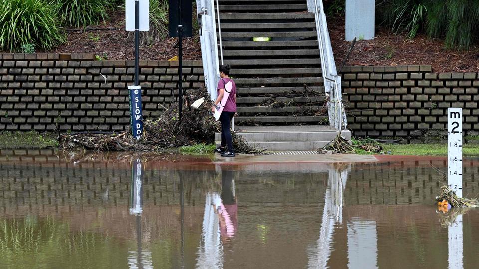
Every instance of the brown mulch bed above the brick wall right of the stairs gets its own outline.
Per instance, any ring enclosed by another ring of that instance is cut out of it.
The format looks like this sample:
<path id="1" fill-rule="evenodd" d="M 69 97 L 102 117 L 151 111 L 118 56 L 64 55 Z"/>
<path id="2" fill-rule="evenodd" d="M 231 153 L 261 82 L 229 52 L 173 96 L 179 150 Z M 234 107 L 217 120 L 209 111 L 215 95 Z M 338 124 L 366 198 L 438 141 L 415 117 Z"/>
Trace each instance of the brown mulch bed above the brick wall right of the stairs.
<path id="1" fill-rule="evenodd" d="M 351 47 L 345 40 L 344 17 L 328 19 L 329 34 L 338 66 Z M 479 46 L 469 51 L 445 50 L 438 39 L 418 35 L 408 40 L 405 34 L 394 35 L 376 26 L 374 40 L 356 42 L 346 65 L 431 65 L 435 72 L 479 72 Z"/>

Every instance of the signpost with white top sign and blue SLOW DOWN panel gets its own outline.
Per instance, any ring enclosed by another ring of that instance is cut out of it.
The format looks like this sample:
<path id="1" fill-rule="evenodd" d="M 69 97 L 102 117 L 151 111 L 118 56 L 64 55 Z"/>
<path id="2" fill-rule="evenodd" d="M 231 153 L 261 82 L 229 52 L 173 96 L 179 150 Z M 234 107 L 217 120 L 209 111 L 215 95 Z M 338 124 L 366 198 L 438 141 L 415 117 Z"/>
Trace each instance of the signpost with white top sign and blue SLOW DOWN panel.
<path id="1" fill-rule="evenodd" d="M 135 139 L 140 139 L 143 134 L 141 88 L 139 81 L 140 31 L 150 30 L 149 0 L 125 1 L 125 28 L 127 31 L 135 31 L 135 85 L 134 87 L 128 86 L 128 92 L 130 95 L 130 124 L 132 135 Z M 137 109 L 136 106 L 139 106 L 139 108 Z M 135 113 L 135 115 L 133 115 L 133 113 Z"/>

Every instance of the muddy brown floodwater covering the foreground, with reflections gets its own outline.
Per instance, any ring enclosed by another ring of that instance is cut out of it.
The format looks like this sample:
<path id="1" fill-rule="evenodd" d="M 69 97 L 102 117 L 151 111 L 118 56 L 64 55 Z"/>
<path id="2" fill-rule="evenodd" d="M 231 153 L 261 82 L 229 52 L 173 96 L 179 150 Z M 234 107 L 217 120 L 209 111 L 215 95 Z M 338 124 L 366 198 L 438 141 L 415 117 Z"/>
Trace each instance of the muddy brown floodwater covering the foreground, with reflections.
<path id="1" fill-rule="evenodd" d="M 445 167 L 2 151 L 0 267 L 478 268 L 479 210 L 433 205 Z"/>

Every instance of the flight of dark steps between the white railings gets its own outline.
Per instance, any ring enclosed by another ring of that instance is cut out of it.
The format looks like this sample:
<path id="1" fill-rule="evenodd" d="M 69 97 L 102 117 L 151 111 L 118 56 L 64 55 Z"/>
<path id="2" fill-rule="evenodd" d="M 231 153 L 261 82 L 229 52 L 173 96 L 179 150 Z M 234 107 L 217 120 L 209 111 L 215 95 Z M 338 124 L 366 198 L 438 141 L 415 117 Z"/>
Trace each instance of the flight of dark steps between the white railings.
<path id="1" fill-rule="evenodd" d="M 316 24 L 306 1 L 219 2 L 224 63 L 232 66 L 239 94 L 235 123 L 325 123 Z"/>

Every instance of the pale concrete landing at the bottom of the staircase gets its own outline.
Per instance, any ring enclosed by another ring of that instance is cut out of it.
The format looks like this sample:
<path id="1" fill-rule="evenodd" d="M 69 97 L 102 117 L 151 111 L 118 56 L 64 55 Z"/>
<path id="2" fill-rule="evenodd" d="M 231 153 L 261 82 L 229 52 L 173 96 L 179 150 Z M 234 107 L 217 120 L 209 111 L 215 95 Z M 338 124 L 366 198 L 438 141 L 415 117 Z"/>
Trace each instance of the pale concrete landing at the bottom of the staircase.
<path id="1" fill-rule="evenodd" d="M 235 129 L 250 146 L 268 151 L 316 151 L 334 140 L 339 134 L 330 126 L 239 126 Z M 351 131 L 341 131 L 341 136 L 351 140 Z M 215 141 L 221 141 L 220 133 Z"/>

